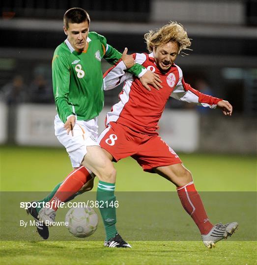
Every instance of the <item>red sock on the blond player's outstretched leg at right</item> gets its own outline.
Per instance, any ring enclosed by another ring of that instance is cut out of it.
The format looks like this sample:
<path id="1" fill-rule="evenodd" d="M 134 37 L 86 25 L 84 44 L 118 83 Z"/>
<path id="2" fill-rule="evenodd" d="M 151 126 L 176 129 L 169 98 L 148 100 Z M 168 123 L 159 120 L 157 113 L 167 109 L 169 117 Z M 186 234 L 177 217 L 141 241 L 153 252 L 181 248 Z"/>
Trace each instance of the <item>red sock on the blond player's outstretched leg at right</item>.
<path id="1" fill-rule="evenodd" d="M 177 194 L 183 208 L 193 218 L 198 226 L 201 235 L 208 234 L 213 225 L 208 219 L 200 195 L 198 194 L 194 183 L 190 182 L 187 185 L 178 187 Z"/>

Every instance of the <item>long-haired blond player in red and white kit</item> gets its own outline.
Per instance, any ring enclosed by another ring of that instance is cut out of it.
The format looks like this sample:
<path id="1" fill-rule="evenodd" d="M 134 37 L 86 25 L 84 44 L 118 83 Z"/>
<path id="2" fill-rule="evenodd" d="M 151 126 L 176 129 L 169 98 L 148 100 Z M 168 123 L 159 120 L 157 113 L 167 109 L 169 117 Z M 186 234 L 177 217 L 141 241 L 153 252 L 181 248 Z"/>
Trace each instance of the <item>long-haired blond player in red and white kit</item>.
<path id="1" fill-rule="evenodd" d="M 159 136 L 158 122 L 169 97 L 205 107 L 219 107 L 228 116 L 232 114 L 232 106 L 228 101 L 200 93 L 184 81 L 182 70 L 174 64 L 177 55 L 191 45 L 182 25 L 171 22 L 157 31 L 146 33 L 144 38 L 150 53 L 135 53 L 134 60 L 158 74 L 163 88 L 143 89 L 138 78 L 125 73 L 124 61 L 118 61 L 105 73 L 104 89 L 113 89 L 122 82 L 124 86 L 120 101 L 107 113 L 106 129 L 98 142 L 110 160 L 116 162 L 131 156 L 144 171 L 157 173 L 176 185 L 183 208 L 198 226 L 203 243 L 211 248 L 217 241 L 231 236 L 238 224 L 213 225 L 210 222 L 191 172 Z M 74 185 L 77 185 L 76 178 L 73 180 L 70 176 L 62 187 L 74 190 Z M 82 186 L 77 186 L 77 191 Z M 58 197 L 58 191 L 55 196 Z M 105 245 L 112 246 L 112 243 L 106 241 Z"/>

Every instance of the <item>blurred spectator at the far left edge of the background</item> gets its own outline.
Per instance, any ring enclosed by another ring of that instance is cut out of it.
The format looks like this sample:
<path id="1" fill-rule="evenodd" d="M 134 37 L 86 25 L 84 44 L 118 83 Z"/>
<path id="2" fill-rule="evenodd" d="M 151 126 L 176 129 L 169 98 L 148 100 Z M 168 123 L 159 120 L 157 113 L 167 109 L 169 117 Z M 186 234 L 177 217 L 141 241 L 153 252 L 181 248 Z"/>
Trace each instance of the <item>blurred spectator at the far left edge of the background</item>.
<path id="1" fill-rule="evenodd" d="M 28 101 L 28 87 L 22 76 L 17 75 L 1 89 L 1 98 L 8 105 L 17 105 Z"/>

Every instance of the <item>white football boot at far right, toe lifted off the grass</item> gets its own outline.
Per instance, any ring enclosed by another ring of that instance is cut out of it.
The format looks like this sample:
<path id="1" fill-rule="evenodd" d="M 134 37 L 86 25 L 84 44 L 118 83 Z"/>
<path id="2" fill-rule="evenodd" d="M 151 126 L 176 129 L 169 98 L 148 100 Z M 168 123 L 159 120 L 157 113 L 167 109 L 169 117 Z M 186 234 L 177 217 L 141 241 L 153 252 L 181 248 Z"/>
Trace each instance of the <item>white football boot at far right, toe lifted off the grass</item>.
<path id="1" fill-rule="evenodd" d="M 216 242 L 230 237 L 237 227 L 237 222 L 216 224 L 207 235 L 201 235 L 202 241 L 207 248 L 215 247 Z"/>

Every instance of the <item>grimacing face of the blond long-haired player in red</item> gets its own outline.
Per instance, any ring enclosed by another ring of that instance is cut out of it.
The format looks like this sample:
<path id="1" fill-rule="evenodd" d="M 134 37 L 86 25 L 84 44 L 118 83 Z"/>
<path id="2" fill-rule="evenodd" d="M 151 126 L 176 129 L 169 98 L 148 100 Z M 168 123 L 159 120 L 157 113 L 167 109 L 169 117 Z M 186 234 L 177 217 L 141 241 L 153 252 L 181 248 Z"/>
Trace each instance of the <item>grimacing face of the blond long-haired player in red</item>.
<path id="1" fill-rule="evenodd" d="M 168 42 L 165 45 L 154 48 L 153 53 L 156 65 L 161 71 L 167 72 L 177 57 L 178 44 L 176 42 Z"/>

